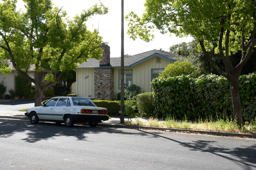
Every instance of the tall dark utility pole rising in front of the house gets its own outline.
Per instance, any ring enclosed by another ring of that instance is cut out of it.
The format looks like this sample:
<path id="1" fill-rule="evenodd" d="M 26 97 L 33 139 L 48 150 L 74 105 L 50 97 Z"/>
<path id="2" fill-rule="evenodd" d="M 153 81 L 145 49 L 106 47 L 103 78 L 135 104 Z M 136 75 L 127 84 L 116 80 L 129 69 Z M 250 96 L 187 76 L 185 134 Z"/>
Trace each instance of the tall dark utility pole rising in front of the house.
<path id="1" fill-rule="evenodd" d="M 121 0 L 121 115 L 120 123 L 124 123 L 124 0 Z"/>

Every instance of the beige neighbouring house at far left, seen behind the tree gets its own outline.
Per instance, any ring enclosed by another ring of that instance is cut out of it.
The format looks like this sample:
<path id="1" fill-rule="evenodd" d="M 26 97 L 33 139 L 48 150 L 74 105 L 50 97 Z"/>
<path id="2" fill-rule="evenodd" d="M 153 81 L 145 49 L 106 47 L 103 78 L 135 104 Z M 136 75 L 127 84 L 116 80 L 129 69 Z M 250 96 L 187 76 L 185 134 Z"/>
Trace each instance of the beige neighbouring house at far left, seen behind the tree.
<path id="1" fill-rule="evenodd" d="M 8 62 L 9 67 L 11 68 L 11 72 L 8 73 L 7 75 L 4 75 L 2 73 L 0 73 L 0 82 L 4 82 L 4 86 L 6 86 L 6 92 L 5 94 L 9 94 L 9 90 L 15 90 L 15 77 L 18 76 L 18 72 L 17 70 L 13 67 L 12 62 Z M 53 72 L 49 69 L 43 69 L 44 75 L 46 75 L 46 73 L 48 72 Z M 32 78 L 35 78 L 35 66 L 31 65 L 30 69 L 28 70 L 28 75 Z M 35 84 L 32 83 L 32 87 L 35 87 Z"/>

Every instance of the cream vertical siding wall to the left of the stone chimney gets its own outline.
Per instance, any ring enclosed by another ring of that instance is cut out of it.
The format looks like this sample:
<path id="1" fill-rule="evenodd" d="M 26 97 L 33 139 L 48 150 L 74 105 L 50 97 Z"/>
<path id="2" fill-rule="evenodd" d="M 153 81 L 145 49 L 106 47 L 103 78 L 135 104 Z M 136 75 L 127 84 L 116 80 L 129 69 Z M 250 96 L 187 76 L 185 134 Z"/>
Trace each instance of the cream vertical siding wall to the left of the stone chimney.
<path id="1" fill-rule="evenodd" d="M 78 97 L 94 99 L 94 68 L 77 69 L 76 76 Z M 88 78 L 85 79 L 87 76 Z"/>

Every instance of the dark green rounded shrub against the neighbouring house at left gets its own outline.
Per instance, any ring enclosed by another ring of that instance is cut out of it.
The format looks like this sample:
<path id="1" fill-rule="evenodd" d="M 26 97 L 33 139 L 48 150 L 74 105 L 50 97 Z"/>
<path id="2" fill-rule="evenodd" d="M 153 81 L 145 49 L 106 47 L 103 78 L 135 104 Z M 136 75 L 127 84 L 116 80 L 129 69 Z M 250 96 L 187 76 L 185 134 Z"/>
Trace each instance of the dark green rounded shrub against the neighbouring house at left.
<path id="1" fill-rule="evenodd" d="M 30 98 L 32 93 L 31 82 L 26 80 L 21 75 L 15 77 L 15 88 L 15 93 L 17 96 L 19 96 L 19 98 Z"/>

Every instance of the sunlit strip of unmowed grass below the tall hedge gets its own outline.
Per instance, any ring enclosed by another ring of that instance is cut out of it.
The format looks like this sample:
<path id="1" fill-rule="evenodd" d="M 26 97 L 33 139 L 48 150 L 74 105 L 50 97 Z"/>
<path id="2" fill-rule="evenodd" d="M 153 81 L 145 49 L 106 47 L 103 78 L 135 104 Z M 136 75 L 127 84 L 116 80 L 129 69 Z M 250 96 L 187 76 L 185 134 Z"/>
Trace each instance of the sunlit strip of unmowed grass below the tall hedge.
<path id="1" fill-rule="evenodd" d="M 160 121 L 158 119 L 148 119 L 147 121 L 139 118 L 135 118 L 134 121 L 125 121 L 127 125 L 139 125 L 139 126 L 151 126 L 161 128 L 177 128 L 177 129 L 189 129 L 189 130 L 208 130 L 217 132 L 233 132 L 233 133 L 256 133 L 256 121 L 251 123 L 245 122 L 243 127 L 239 127 L 236 122 L 219 119 L 217 121 L 177 121 L 173 119 L 167 119 L 166 121 Z"/>

